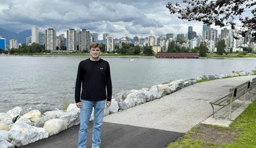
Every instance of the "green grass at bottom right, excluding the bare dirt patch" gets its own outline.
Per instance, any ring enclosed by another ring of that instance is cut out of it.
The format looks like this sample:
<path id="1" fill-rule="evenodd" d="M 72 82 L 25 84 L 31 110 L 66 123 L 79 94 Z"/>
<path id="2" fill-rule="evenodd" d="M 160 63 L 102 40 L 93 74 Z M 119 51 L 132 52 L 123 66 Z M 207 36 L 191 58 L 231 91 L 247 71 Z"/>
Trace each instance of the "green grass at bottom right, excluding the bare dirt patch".
<path id="1" fill-rule="evenodd" d="M 197 133 L 196 131 L 199 130 L 199 127 L 193 127 L 190 131 L 188 131 L 185 136 L 177 139 L 173 143 L 168 144 L 167 148 L 176 148 L 176 147 L 230 147 L 230 148 L 237 148 L 237 147 L 256 147 L 256 103 L 253 102 L 249 104 L 248 108 L 230 124 L 229 127 L 218 127 L 218 126 L 208 126 L 208 128 L 216 128 L 223 132 L 230 131 L 232 137 L 237 137 L 231 143 L 222 143 L 220 145 L 202 141 L 200 139 L 193 140 L 192 137 L 195 136 Z"/>

